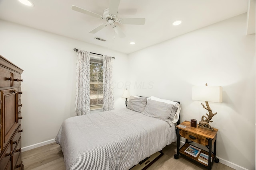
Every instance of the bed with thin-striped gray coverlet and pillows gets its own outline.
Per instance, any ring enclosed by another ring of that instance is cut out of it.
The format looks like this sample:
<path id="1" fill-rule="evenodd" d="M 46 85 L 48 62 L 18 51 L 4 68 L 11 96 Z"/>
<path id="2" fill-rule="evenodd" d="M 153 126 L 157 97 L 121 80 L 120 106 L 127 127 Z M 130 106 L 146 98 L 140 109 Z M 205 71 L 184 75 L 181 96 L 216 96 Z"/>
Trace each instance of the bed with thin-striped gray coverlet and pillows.
<path id="1" fill-rule="evenodd" d="M 129 170 L 176 142 L 180 105 L 151 98 L 131 96 L 127 108 L 66 119 L 55 139 L 66 170 Z"/>

